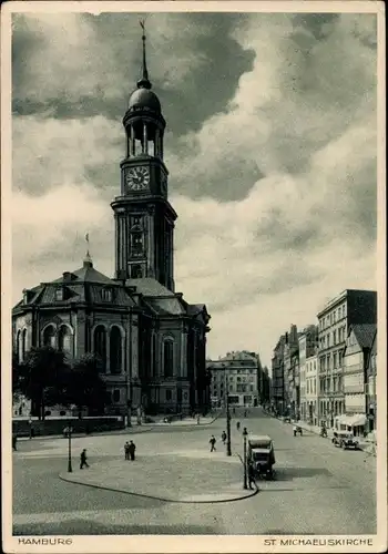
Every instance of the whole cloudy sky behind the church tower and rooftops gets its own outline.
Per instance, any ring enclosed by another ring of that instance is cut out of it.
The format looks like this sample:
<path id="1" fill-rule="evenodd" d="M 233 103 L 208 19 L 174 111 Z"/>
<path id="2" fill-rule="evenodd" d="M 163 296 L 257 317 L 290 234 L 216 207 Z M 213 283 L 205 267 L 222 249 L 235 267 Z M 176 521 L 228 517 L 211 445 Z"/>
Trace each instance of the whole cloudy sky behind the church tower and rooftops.
<path id="1" fill-rule="evenodd" d="M 13 301 L 113 275 L 121 123 L 139 13 L 14 14 Z M 261 352 L 345 288 L 376 289 L 376 16 L 157 13 L 147 60 L 167 121 L 175 283 L 212 315 L 208 356 Z"/>

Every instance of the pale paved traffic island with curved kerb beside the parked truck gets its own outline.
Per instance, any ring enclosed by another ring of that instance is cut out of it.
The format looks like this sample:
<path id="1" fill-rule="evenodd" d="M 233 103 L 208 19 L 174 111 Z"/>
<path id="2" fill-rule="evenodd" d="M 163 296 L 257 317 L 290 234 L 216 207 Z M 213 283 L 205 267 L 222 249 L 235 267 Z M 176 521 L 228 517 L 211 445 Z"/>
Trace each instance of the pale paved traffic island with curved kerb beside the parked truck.
<path id="1" fill-rule="evenodd" d="M 214 503 L 253 496 L 257 490 L 244 490 L 243 464 L 237 455 L 207 449 L 175 450 L 101 461 L 89 469 L 74 468 L 60 479 L 72 483 L 108 489 L 166 502 Z"/>

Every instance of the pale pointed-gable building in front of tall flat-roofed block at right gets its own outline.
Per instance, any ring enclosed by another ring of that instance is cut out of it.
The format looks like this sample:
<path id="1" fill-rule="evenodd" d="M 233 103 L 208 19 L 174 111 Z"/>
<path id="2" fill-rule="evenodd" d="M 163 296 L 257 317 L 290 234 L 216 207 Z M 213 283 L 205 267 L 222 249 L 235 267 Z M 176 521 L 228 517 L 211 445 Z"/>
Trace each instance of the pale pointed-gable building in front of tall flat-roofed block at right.
<path id="1" fill-rule="evenodd" d="M 337 421 L 340 425 L 351 427 L 356 434 L 367 429 L 367 371 L 376 325 L 355 324 L 349 332 L 344 350 L 344 394 L 346 416 Z"/>

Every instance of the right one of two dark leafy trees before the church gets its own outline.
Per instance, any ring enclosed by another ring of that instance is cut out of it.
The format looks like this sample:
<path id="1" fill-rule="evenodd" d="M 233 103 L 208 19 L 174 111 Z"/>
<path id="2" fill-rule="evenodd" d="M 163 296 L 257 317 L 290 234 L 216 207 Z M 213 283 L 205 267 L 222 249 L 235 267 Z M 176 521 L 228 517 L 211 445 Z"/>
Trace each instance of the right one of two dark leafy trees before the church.
<path id="1" fill-rule="evenodd" d="M 64 376 L 62 403 L 75 404 L 81 412 L 102 413 L 108 403 L 106 386 L 100 377 L 101 360 L 86 353 L 75 360 Z"/>

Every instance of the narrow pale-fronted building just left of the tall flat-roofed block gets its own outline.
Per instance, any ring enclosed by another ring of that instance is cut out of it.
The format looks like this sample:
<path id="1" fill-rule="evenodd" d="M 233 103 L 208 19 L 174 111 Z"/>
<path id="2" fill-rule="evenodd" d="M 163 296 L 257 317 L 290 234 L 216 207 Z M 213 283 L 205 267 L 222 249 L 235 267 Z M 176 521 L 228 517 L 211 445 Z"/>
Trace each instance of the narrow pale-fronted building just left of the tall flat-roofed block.
<path id="1" fill-rule="evenodd" d="M 304 329 L 298 336 L 298 350 L 299 350 L 299 397 L 300 397 L 300 418 L 307 421 L 310 418 L 310 381 L 307 381 L 307 366 L 306 360 L 312 359 L 317 352 L 318 347 L 318 328 L 316 325 L 310 325 Z M 309 376 L 308 379 L 312 379 Z M 308 383 L 308 386 L 307 386 Z M 308 392 L 307 392 L 308 387 Z M 307 401 L 308 394 L 308 401 Z"/>

